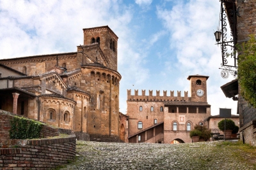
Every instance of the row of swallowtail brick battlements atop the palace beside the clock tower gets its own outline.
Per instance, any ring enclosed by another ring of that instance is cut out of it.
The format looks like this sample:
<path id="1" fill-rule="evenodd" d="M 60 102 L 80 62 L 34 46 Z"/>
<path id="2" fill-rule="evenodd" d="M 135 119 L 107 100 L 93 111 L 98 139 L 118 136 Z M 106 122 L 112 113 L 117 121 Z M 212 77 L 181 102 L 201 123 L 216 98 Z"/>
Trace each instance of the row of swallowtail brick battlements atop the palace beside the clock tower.
<path id="1" fill-rule="evenodd" d="M 160 96 L 160 90 L 156 90 L 156 96 L 153 96 L 153 90 L 148 90 L 148 96 L 145 95 L 146 90 L 141 90 L 141 96 L 138 90 L 134 90 L 134 95 L 131 95 L 131 89 L 127 89 L 127 101 L 190 101 L 188 91 L 184 91 L 184 97 L 181 96 L 181 91 L 177 91 L 177 96 L 174 96 L 174 90 L 170 90 L 170 96 L 167 96 L 167 90 L 163 91 L 163 96 Z"/>

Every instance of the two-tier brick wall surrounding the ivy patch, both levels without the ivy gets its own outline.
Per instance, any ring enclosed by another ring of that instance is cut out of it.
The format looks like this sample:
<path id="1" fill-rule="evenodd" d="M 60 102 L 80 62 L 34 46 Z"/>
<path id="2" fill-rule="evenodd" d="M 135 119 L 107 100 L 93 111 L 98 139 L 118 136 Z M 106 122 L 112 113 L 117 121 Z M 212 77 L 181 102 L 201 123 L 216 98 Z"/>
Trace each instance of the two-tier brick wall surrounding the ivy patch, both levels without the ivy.
<path id="1" fill-rule="evenodd" d="M 13 116 L 0 110 L 0 169 L 50 169 L 74 159 L 76 136 L 72 131 L 44 125 L 41 138 L 59 136 L 60 132 L 71 135 L 57 139 L 10 139 Z"/>

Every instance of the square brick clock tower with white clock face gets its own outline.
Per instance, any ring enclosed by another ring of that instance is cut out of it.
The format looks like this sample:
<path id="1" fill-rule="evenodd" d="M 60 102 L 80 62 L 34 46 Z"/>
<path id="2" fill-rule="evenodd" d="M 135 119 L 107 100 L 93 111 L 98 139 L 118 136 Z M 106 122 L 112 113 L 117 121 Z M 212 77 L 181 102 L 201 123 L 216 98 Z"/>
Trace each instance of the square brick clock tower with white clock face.
<path id="1" fill-rule="evenodd" d="M 192 75 L 188 76 L 190 80 L 191 102 L 207 103 L 207 84 L 209 76 Z"/>

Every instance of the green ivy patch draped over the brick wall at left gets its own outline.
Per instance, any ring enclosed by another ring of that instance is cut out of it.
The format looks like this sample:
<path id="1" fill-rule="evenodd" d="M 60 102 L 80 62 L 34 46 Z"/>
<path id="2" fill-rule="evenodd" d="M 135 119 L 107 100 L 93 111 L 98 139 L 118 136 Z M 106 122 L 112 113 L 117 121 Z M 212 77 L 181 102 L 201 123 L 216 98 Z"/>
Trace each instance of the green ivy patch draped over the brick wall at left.
<path id="1" fill-rule="evenodd" d="M 34 139 L 40 137 L 43 124 L 24 117 L 11 120 L 10 139 Z"/>

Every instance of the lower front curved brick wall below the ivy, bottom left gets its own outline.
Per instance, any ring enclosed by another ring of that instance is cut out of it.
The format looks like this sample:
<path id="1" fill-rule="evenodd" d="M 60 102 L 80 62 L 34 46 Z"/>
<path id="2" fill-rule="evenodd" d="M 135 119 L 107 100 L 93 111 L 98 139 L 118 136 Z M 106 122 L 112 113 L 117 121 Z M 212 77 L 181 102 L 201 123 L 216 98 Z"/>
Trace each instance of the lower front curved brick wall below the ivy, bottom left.
<path id="1" fill-rule="evenodd" d="M 8 148 L 0 149 L 0 169 L 51 169 L 67 163 L 76 155 L 74 135 L 68 138 L 15 139 L 6 142 L 4 146 Z"/>

